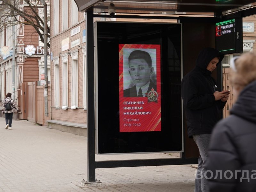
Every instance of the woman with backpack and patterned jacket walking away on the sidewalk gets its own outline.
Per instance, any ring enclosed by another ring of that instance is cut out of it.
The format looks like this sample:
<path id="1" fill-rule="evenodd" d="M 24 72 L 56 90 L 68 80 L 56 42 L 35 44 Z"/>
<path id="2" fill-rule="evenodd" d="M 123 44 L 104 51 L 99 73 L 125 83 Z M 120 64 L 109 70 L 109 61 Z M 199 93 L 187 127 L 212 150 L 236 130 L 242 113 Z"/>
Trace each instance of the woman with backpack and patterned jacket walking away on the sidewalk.
<path id="1" fill-rule="evenodd" d="M 11 98 L 12 93 L 7 93 L 3 101 L 2 113 L 5 114 L 5 129 L 12 129 L 12 116 L 17 111 L 14 100 Z"/>

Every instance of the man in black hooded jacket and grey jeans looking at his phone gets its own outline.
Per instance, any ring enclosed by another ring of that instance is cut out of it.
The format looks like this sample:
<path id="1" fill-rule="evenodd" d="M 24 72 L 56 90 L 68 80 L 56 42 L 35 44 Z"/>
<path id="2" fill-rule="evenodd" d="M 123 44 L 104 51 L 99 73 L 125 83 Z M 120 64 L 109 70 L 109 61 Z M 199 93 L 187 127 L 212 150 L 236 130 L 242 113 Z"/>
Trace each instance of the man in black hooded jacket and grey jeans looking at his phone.
<path id="1" fill-rule="evenodd" d="M 228 91 L 216 91 L 216 81 L 211 76 L 223 58 L 224 55 L 218 50 L 204 48 L 197 57 L 196 67 L 185 75 L 181 82 L 188 137 L 195 140 L 200 153 L 195 192 L 207 191 L 203 167 L 207 158 L 207 148 L 212 129 L 220 120 L 219 113 L 230 94 Z"/>

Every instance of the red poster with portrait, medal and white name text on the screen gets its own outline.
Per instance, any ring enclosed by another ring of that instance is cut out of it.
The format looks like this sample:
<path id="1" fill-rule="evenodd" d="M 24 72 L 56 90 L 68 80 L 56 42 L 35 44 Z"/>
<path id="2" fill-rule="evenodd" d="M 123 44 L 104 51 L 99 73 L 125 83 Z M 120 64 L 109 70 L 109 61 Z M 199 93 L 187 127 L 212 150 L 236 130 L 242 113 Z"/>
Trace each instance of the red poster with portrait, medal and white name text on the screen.
<path id="1" fill-rule="evenodd" d="M 160 45 L 119 44 L 120 132 L 161 131 Z"/>

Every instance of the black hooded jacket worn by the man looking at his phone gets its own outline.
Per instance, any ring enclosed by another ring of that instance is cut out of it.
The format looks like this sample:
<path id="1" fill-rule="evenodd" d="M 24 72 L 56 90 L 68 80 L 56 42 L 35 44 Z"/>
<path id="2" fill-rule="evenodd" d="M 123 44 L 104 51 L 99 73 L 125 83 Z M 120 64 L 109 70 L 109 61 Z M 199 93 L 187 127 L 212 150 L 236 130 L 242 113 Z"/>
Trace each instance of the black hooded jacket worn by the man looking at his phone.
<path id="1" fill-rule="evenodd" d="M 189 138 L 195 134 L 211 133 L 226 104 L 221 100 L 215 101 L 213 93 L 217 91 L 217 85 L 212 72 L 206 69 L 215 57 L 220 57 L 220 63 L 224 55 L 216 49 L 204 48 L 198 55 L 196 67 L 181 81 Z"/>

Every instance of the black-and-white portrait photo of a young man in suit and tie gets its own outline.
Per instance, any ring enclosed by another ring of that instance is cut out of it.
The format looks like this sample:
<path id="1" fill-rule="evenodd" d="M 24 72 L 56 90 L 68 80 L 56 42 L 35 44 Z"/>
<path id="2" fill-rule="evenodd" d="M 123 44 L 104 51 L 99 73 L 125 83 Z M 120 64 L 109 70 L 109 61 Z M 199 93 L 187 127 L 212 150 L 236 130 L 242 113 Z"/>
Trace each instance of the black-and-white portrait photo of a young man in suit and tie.
<path id="1" fill-rule="evenodd" d="M 156 91 L 156 49 L 124 49 L 124 97 Z"/>

